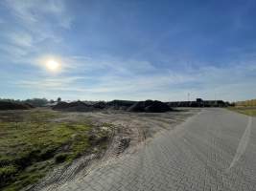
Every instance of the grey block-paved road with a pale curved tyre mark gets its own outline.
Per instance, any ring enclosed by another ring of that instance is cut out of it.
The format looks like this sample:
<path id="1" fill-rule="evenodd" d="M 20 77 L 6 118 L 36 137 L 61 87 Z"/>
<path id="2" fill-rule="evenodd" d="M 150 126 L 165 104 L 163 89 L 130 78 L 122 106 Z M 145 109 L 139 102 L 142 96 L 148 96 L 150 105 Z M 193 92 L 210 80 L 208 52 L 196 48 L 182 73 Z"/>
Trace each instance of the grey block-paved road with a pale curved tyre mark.
<path id="1" fill-rule="evenodd" d="M 256 190 L 256 119 L 206 109 L 59 190 Z"/>

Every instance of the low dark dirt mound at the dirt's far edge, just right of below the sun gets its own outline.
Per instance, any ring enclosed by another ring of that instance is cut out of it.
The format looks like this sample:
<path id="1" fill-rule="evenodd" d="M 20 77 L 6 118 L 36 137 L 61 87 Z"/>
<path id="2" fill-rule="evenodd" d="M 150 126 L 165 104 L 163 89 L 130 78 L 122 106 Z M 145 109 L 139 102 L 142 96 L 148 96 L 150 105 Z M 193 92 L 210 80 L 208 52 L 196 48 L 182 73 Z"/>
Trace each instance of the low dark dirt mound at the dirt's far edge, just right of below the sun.
<path id="1" fill-rule="evenodd" d="M 92 105 L 87 105 L 81 101 L 74 101 L 71 103 L 59 102 L 53 107 L 53 110 L 68 111 L 68 112 L 90 112 L 94 108 Z"/>

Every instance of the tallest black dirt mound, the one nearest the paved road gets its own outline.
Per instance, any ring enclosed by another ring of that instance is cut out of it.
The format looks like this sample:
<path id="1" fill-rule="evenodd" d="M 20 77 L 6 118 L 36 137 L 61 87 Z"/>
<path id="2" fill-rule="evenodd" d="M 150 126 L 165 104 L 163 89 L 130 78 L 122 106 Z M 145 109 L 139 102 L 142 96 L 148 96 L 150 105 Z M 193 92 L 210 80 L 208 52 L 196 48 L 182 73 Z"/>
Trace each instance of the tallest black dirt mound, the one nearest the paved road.
<path id="1" fill-rule="evenodd" d="M 162 113 L 172 111 L 166 103 L 157 100 L 146 100 L 134 103 L 128 108 L 128 112 L 150 112 L 150 113 Z"/>

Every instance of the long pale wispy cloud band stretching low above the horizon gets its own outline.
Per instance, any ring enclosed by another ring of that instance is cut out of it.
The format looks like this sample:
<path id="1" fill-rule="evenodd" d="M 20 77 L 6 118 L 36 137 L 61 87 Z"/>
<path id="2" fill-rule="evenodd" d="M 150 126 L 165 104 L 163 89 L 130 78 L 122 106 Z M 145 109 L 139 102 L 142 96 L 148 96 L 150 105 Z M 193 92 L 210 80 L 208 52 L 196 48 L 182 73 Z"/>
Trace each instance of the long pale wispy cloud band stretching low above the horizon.
<path id="1" fill-rule="evenodd" d="M 101 61 L 92 57 L 71 56 L 64 60 L 72 63 L 67 73 L 56 77 L 37 78 L 34 81 L 23 80 L 17 82 L 17 85 L 42 89 L 49 94 L 57 91 L 68 95 L 72 92 L 75 94 L 72 98 L 84 99 L 101 99 L 105 96 L 182 100 L 191 93 L 192 98 L 201 96 L 214 99 L 217 96 L 230 100 L 234 97 L 232 92 L 236 92 L 237 98 L 243 97 L 244 94 L 239 93 L 239 90 L 252 85 L 256 72 L 253 64 L 246 64 L 246 67 L 240 64 L 233 68 L 205 66 L 198 70 L 189 67 L 182 71 L 159 71 L 145 61 L 123 61 L 118 65 L 120 61 L 117 58 Z M 137 67 L 145 63 L 148 67 Z M 150 73 L 144 73 L 145 70 Z"/>

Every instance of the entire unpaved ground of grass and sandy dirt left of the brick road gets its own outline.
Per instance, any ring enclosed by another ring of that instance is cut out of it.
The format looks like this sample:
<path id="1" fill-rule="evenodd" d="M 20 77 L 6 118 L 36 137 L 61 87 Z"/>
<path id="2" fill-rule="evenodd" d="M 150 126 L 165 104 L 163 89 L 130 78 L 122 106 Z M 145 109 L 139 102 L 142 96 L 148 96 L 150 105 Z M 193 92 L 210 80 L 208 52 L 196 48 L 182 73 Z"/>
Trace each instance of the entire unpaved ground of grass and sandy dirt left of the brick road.
<path id="1" fill-rule="evenodd" d="M 134 153 L 146 139 L 197 112 L 1 111 L 0 189 L 55 190 L 94 166 Z"/>

